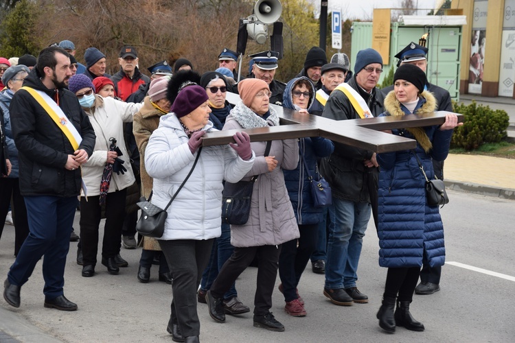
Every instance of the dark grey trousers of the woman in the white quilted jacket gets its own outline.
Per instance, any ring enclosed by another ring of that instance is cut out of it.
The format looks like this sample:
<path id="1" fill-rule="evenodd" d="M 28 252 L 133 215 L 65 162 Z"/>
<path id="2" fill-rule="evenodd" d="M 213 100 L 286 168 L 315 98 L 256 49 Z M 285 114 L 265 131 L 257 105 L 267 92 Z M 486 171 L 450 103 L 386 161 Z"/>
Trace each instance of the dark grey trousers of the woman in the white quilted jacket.
<path id="1" fill-rule="evenodd" d="M 159 240 L 159 246 L 174 277 L 170 319 L 179 324 L 184 337 L 201 333 L 201 322 L 196 311 L 196 291 L 209 261 L 213 241 L 214 239 Z"/>

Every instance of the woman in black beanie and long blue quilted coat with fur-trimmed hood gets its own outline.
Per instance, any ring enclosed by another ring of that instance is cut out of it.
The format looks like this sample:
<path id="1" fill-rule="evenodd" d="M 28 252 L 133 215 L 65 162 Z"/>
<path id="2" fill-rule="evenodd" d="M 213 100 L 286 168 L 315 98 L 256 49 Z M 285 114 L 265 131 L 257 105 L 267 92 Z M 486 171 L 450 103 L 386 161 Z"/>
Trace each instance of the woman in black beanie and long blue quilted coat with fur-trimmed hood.
<path id="1" fill-rule="evenodd" d="M 424 91 L 426 81 L 422 69 L 413 64 L 400 66 L 393 76 L 393 91 L 385 98 L 386 112 L 381 116 L 433 113 L 437 104 L 435 97 Z M 379 265 L 388 268 L 377 318 L 385 331 L 393 332 L 396 326 L 424 331 L 424 324 L 411 316 L 409 304 L 422 261 L 428 261 L 431 267 L 444 264 L 444 225 L 438 206 L 428 206 L 426 202 L 426 179 L 415 154 L 427 177 L 435 178 L 432 160 L 447 157 L 453 128 L 459 125 L 457 115 L 449 113 L 441 126 L 391 130 L 392 134 L 415 139 L 417 147 L 377 155 Z"/>

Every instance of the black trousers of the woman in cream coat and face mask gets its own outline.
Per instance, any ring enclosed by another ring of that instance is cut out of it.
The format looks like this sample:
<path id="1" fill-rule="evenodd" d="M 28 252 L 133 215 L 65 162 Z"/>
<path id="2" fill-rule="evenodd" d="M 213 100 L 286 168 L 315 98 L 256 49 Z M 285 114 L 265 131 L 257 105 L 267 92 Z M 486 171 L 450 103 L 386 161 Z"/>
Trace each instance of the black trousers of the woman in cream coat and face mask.
<path id="1" fill-rule="evenodd" d="M 106 224 L 102 240 L 102 257 L 110 258 L 119 254 L 122 245 L 122 225 L 125 217 L 126 189 L 108 193 L 106 196 Z M 100 196 L 80 197 L 80 243 L 84 265 L 97 264 L 98 226 L 100 225 L 102 207 Z"/>

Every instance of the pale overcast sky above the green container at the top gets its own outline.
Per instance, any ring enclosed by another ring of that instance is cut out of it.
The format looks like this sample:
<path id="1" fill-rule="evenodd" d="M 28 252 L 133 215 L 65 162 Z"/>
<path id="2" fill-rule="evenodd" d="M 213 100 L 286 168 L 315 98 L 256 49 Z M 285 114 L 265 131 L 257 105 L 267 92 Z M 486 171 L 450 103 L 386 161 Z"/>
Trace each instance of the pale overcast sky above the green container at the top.
<path id="1" fill-rule="evenodd" d="M 320 0 L 311 0 L 317 8 L 320 8 Z M 428 10 L 435 7 L 436 0 L 413 0 L 418 15 L 427 14 Z M 328 12 L 341 10 L 341 17 L 345 19 L 371 19 L 374 8 L 400 8 L 401 0 L 328 0 Z"/>

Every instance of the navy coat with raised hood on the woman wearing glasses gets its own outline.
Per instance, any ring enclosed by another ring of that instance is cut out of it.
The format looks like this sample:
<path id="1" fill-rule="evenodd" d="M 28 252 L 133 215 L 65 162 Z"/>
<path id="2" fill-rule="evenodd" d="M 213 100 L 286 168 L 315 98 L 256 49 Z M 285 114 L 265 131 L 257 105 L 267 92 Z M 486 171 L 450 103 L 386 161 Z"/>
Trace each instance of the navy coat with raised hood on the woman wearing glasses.
<path id="1" fill-rule="evenodd" d="M 299 106 L 293 104 L 292 91 L 300 80 L 308 80 L 313 94 L 310 97 L 308 104 L 308 112 L 314 100 L 314 86 L 312 82 L 306 77 L 295 78 L 286 84 L 286 90 L 283 95 L 283 106 L 292 110 L 299 110 Z M 334 144 L 329 139 L 322 137 L 307 137 L 299 139 L 299 163 L 293 170 L 284 170 L 284 181 L 286 182 L 286 189 L 288 189 L 288 196 L 290 197 L 291 204 L 297 223 L 300 225 L 317 224 L 323 219 L 322 208 L 313 206 L 313 199 L 310 192 L 310 179 L 319 180 L 320 174 L 317 166 L 319 158 L 329 156 L 334 150 Z M 301 152 L 304 152 L 302 154 Z M 304 167 L 304 160 L 308 165 L 308 171 Z"/>

